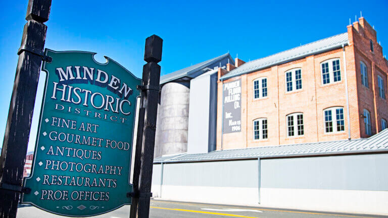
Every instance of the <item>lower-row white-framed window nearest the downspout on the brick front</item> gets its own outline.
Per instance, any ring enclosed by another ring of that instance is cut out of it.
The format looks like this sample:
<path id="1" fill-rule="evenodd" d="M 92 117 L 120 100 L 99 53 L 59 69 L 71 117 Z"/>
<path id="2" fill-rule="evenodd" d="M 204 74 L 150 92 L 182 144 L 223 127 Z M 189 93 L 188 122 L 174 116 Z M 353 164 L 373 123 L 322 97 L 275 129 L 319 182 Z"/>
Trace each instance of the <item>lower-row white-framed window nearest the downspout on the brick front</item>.
<path id="1" fill-rule="evenodd" d="M 344 107 L 329 107 L 323 110 L 325 133 L 345 131 Z"/>

